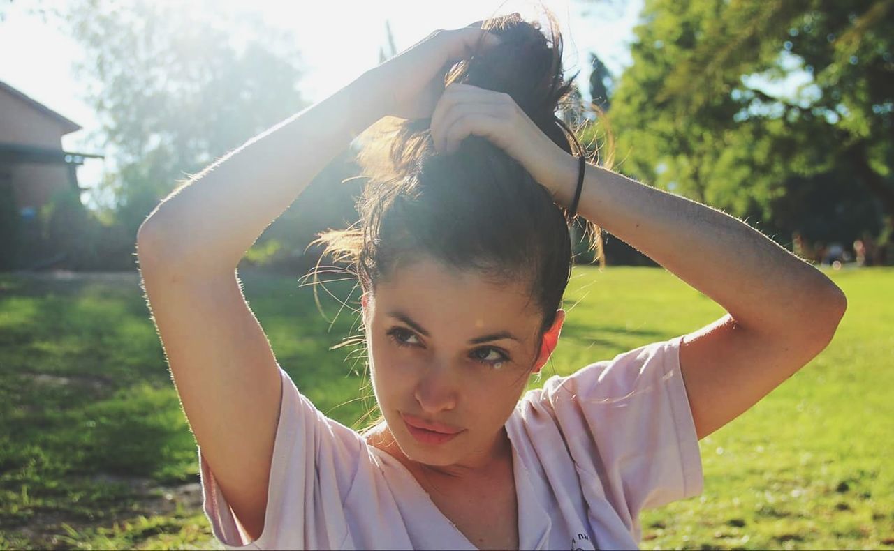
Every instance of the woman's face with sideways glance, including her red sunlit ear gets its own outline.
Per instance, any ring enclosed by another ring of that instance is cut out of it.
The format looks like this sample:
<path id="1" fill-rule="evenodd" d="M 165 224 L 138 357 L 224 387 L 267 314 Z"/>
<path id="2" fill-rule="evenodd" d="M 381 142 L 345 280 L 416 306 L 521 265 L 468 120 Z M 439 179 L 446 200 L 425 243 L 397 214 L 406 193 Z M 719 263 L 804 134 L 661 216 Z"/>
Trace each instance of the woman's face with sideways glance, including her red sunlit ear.
<path id="1" fill-rule="evenodd" d="M 364 303 L 375 398 L 403 454 L 433 466 L 486 463 L 564 313 L 538 346 L 543 318 L 527 284 L 432 260 L 395 270 Z"/>

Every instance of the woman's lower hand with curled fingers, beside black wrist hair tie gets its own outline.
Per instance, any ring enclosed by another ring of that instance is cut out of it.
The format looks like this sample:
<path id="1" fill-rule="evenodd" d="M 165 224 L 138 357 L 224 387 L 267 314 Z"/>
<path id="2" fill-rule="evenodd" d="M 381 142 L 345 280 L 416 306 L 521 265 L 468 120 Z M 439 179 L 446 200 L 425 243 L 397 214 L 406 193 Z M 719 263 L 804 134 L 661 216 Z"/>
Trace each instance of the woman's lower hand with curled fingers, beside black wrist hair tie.
<path id="1" fill-rule="evenodd" d="M 513 157 L 546 188 L 559 196 L 562 175 L 571 156 L 537 128 L 512 96 L 468 84 L 444 88 L 432 113 L 434 148 L 451 154 L 460 142 L 475 135 L 489 139 Z M 574 168 L 577 173 L 577 168 Z"/>

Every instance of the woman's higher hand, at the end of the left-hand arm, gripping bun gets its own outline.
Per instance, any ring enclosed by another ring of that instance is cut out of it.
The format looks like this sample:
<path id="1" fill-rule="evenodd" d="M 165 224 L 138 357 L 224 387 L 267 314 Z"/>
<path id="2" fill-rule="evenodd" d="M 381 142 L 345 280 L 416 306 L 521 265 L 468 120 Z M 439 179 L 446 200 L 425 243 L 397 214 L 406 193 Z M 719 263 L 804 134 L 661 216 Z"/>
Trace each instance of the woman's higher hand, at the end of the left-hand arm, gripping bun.
<path id="1" fill-rule="evenodd" d="M 447 71 L 455 63 L 500 44 L 496 35 L 481 29 L 481 23 L 435 30 L 371 70 L 370 86 L 377 88 L 373 93 L 385 98 L 385 114 L 401 119 L 430 118 L 443 94 Z"/>

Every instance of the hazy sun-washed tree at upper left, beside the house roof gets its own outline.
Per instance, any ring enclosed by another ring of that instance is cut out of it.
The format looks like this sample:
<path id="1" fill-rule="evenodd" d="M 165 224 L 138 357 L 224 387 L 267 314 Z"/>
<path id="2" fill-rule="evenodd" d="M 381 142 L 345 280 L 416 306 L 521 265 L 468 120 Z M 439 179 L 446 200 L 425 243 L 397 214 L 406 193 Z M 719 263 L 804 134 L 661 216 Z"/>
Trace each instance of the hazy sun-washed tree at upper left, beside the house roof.
<path id="1" fill-rule="evenodd" d="M 257 18 L 82 0 L 66 21 L 86 50 L 79 69 L 115 165 L 100 192 L 132 236 L 178 180 L 306 105 L 289 35 Z"/>

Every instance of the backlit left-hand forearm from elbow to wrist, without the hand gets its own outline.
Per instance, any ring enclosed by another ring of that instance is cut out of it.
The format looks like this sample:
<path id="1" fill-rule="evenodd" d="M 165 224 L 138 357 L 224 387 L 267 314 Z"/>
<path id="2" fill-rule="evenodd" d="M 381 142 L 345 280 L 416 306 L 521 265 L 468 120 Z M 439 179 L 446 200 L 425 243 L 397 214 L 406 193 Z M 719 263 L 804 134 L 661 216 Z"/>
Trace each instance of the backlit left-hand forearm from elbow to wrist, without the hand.
<path id="1" fill-rule="evenodd" d="M 384 115 L 383 88 L 369 86 L 371 74 L 251 138 L 165 198 L 140 228 L 141 253 L 177 258 L 192 273 L 235 269 L 316 174 Z"/>

